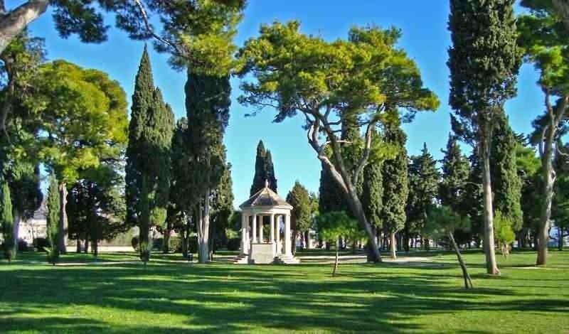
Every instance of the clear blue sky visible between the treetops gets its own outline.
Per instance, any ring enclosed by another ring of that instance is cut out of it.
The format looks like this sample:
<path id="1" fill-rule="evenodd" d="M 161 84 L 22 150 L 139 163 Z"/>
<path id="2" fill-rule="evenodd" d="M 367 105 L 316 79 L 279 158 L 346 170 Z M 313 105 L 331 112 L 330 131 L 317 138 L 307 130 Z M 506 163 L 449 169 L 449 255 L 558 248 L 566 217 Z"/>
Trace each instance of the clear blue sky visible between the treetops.
<path id="1" fill-rule="evenodd" d="M 440 149 L 445 147 L 450 120 L 448 107 L 449 71 L 446 65 L 450 33 L 447 31 L 449 4 L 445 0 L 249 0 L 243 22 L 236 39 L 238 45 L 256 36 L 261 23 L 297 19 L 302 31 L 323 36 L 326 39 L 346 38 L 351 26 L 375 24 L 395 26 L 403 31 L 400 47 L 405 48 L 422 72 L 425 86 L 437 93 L 441 107 L 436 112 L 418 114 L 413 123 L 405 124 L 408 134 L 408 151 L 419 153 L 422 144 L 435 158 L 441 158 Z M 107 22 L 114 24 L 112 18 Z M 55 32 L 50 14 L 31 24 L 34 36 L 46 38 L 48 59 L 63 58 L 85 68 L 97 68 L 118 80 L 132 95 L 144 43 L 131 41 L 126 33 L 112 28 L 108 41 L 98 45 L 80 43 L 77 38 L 63 39 Z M 151 52 L 154 83 L 164 93 L 176 117 L 183 117 L 184 72 L 172 70 L 167 55 Z M 506 104 L 514 131 L 531 131 L 531 121 L 543 110 L 543 97 L 536 86 L 537 73 L 531 65 L 524 65 L 519 76 L 519 94 Z M 273 124 L 271 110 L 260 112 L 256 117 L 245 117 L 250 112 L 236 98 L 240 94 L 238 80 L 232 80 L 233 104 L 230 125 L 225 134 L 228 160 L 233 165 L 233 193 L 235 205 L 248 198 L 254 173 L 255 148 L 262 139 L 271 150 L 275 161 L 279 193 L 286 196 L 295 180 L 310 191 L 319 187 L 320 163 L 309 147 L 300 117 Z"/>

